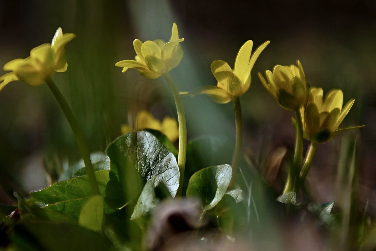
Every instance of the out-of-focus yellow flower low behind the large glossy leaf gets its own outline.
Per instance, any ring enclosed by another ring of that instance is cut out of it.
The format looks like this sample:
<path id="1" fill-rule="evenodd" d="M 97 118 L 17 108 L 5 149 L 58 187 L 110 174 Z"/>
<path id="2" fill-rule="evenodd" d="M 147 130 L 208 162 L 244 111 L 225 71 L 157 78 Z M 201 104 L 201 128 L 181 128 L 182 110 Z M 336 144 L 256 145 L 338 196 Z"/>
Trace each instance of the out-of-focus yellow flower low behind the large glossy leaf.
<path id="1" fill-rule="evenodd" d="M 152 113 L 147 110 L 141 110 L 136 116 L 135 130 L 153 129 L 162 132 L 171 142 L 179 138 L 179 127 L 176 119 L 165 117 L 162 122 L 154 118 Z M 128 124 L 121 125 L 121 133 L 132 132 L 133 129 Z"/>

